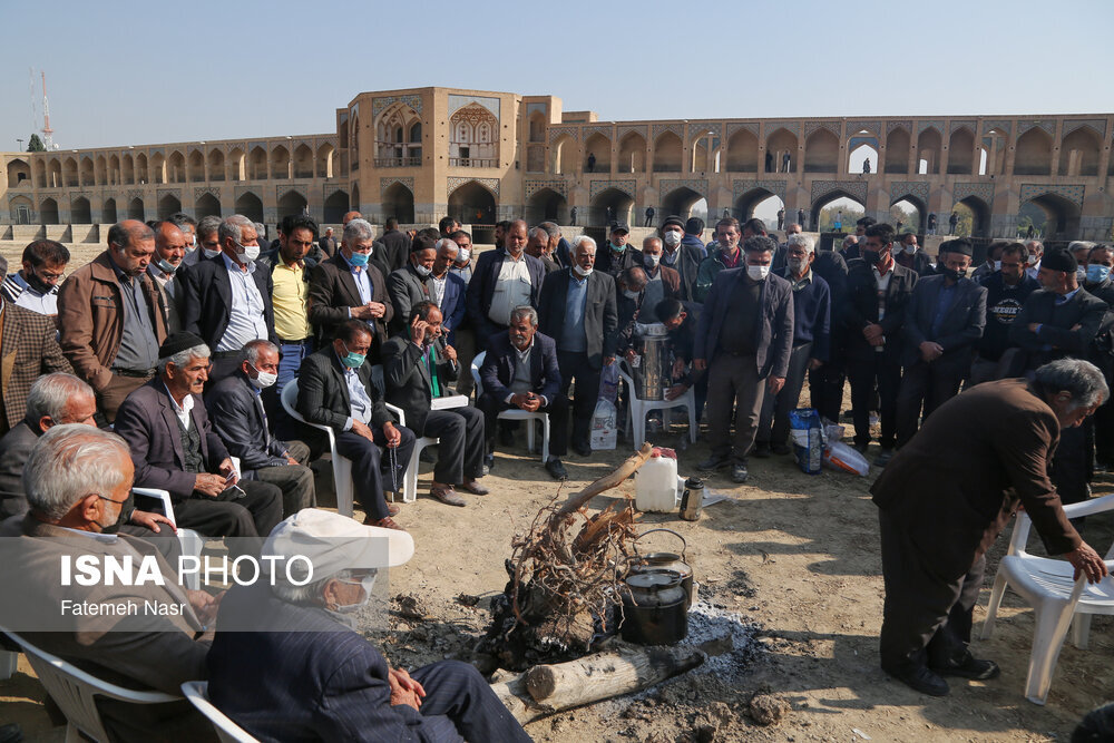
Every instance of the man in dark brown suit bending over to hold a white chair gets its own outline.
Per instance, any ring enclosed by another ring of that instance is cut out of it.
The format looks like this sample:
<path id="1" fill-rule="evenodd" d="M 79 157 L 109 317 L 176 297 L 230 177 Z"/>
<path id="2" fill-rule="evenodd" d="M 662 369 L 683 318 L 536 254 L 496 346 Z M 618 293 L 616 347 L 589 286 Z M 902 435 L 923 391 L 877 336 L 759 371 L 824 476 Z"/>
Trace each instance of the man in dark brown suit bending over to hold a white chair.
<path id="1" fill-rule="evenodd" d="M 1102 373 L 1075 359 L 1042 366 L 1032 382 L 979 384 L 940 405 L 874 480 L 883 671 L 934 696 L 948 693 L 945 675 L 998 675 L 967 644 L 986 553 L 1019 506 L 1076 577 L 1106 575 L 1064 515 L 1048 465 L 1061 432 L 1108 397 Z"/>

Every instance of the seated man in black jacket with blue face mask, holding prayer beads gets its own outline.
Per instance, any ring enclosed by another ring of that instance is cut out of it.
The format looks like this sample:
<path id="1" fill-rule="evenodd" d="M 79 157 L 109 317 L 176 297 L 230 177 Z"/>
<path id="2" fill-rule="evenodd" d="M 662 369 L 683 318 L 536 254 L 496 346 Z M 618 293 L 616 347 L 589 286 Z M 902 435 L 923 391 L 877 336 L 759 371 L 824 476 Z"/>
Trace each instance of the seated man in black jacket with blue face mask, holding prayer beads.
<path id="1" fill-rule="evenodd" d="M 383 489 L 385 482 L 390 490 L 399 491 L 414 434 L 394 424 L 383 405 L 382 392 L 372 382 L 371 366 L 364 363 L 371 343 L 371 329 L 365 322 L 342 321 L 333 342 L 302 364 L 297 410 L 309 422 L 332 428 L 336 450 L 352 460 L 352 486 L 364 522 L 401 529 L 391 518 L 398 515 L 399 507 L 387 504 Z"/>

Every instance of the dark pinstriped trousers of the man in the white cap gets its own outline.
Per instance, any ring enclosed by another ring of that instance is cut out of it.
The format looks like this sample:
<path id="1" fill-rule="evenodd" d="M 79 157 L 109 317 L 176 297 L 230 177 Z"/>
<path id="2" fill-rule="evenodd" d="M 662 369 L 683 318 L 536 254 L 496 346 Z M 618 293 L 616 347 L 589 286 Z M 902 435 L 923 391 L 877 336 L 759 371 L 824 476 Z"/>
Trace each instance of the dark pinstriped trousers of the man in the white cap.
<path id="1" fill-rule="evenodd" d="M 436 731 L 430 740 L 434 736 L 438 741 L 467 739 L 492 743 L 531 740 L 480 672 L 468 663 L 438 661 L 410 675 L 426 690 L 419 712 L 424 717 L 422 727 L 432 727 L 430 733 Z M 446 722 L 431 725 L 430 717 Z"/>

